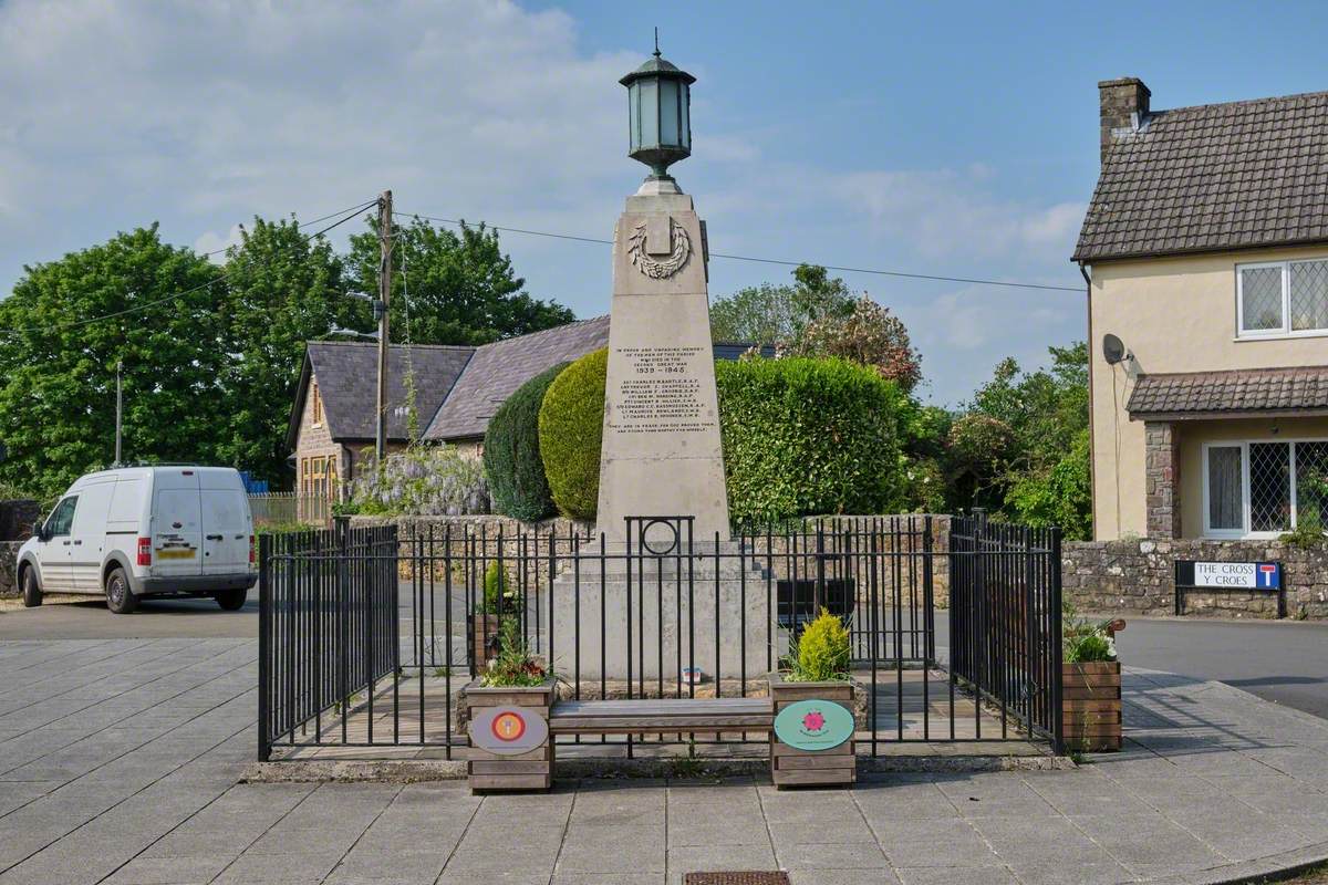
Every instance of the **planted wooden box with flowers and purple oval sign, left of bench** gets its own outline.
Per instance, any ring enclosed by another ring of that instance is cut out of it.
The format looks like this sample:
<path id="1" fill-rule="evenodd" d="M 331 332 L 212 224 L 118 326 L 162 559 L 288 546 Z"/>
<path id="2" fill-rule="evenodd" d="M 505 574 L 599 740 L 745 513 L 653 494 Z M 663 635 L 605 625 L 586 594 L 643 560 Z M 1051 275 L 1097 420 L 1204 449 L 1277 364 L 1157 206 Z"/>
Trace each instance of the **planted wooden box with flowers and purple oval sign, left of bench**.
<path id="1" fill-rule="evenodd" d="M 548 710 L 555 679 L 530 653 L 517 618 L 505 620 L 498 650 L 463 689 L 470 789 L 547 789 L 554 783 Z"/>

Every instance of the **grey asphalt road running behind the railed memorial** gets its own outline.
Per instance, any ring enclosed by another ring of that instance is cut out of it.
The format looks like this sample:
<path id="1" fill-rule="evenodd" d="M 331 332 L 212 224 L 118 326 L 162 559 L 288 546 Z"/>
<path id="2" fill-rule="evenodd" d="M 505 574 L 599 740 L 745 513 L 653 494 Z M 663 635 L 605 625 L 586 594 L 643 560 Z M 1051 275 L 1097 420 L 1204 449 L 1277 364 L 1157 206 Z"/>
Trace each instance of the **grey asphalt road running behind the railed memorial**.
<path id="1" fill-rule="evenodd" d="M 402 593 L 404 620 L 408 593 Z M 438 616 L 441 626 L 441 609 Z M 461 634 L 459 610 L 454 618 Z M 939 645 L 947 644 L 946 625 L 946 613 L 938 612 Z M 239 612 L 222 612 L 211 600 L 161 600 L 145 601 L 135 614 L 116 616 L 105 602 L 89 598 L 0 613 L 0 640 L 256 636 L 256 592 Z M 1216 679 L 1328 719 L 1328 624 L 1131 618 L 1118 646 L 1126 663 Z"/>

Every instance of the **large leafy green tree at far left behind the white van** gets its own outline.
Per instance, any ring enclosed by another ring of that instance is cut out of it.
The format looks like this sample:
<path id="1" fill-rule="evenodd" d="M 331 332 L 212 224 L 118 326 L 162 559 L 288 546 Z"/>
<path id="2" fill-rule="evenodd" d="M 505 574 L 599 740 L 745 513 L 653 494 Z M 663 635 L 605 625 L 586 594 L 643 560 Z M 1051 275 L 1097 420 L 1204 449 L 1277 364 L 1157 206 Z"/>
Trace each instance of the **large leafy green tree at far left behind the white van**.
<path id="1" fill-rule="evenodd" d="M 0 301 L 0 480 L 56 496 L 114 459 L 117 361 L 125 459 L 215 462 L 228 425 L 219 277 L 155 224 L 25 267 Z"/>

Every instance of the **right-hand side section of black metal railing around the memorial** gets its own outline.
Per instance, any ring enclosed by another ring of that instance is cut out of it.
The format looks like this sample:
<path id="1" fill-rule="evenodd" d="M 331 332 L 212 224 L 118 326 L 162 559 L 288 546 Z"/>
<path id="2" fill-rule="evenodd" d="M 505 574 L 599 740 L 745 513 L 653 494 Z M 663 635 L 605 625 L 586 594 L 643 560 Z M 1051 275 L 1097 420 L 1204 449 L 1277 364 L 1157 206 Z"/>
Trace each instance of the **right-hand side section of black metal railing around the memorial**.
<path id="1" fill-rule="evenodd" d="M 999 711 L 1001 736 L 1015 727 L 1060 748 L 1060 529 L 979 511 L 955 517 L 950 557 L 951 673 Z M 983 718 L 975 723 L 983 736 Z"/>

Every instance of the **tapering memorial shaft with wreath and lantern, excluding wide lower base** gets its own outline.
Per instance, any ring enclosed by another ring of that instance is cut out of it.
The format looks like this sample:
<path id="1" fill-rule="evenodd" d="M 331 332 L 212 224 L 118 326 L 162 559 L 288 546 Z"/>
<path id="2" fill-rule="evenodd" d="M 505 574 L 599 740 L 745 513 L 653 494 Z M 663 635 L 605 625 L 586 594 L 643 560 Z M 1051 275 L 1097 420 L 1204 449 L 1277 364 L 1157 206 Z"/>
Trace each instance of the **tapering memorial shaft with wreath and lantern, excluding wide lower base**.
<path id="1" fill-rule="evenodd" d="M 697 540 L 729 537 L 705 223 L 668 174 L 691 154 L 689 73 L 660 57 L 623 77 L 633 159 L 651 166 L 614 234 L 598 531 L 624 517 L 691 516 Z"/>

